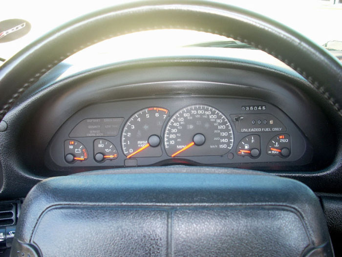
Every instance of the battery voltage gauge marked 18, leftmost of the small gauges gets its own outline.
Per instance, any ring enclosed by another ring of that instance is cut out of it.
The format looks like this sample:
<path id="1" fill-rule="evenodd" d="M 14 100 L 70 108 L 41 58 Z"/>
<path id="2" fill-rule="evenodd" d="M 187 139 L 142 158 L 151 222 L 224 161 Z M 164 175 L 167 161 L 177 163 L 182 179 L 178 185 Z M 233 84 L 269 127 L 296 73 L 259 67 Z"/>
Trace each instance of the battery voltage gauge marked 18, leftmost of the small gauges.
<path id="1" fill-rule="evenodd" d="M 76 161 L 85 161 L 88 159 L 88 151 L 80 141 L 65 140 L 64 159 L 69 164 Z"/>

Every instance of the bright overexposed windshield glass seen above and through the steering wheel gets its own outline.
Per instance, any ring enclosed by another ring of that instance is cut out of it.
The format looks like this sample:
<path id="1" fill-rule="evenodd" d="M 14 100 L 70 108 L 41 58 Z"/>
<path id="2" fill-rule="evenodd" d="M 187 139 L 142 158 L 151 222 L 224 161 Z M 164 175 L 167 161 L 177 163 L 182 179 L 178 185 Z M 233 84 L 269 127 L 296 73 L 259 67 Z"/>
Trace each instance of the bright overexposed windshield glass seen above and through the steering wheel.
<path id="1" fill-rule="evenodd" d="M 0 43 L 0 58 L 2 60 L 10 58 L 21 48 L 62 23 L 85 13 L 122 2 L 127 1 L 32 0 L 21 1 L 20 4 L 17 1 L 4 1 L 1 3 L 1 8 L 6 11 L 1 12 L 0 22 L 8 19 L 23 19 L 31 24 L 31 29 L 17 40 Z M 299 31 L 321 46 L 329 41 L 342 42 L 342 0 L 220 0 L 220 2 L 249 9 L 277 20 Z M 104 44 L 95 51 L 107 53 L 120 49 L 121 54 L 124 54 L 122 51 L 127 51 L 130 54 L 142 51 L 155 53 L 158 49 L 165 51 L 165 48 L 189 45 L 227 47 L 227 44 L 220 45 L 217 42 L 231 40 L 201 32 L 148 31 L 116 38 L 110 44 Z M 203 43 L 206 44 L 203 45 Z M 214 45 L 212 46 L 211 43 Z M 238 43 L 235 46 L 229 44 L 229 47 L 244 48 Z M 327 48 L 334 50 L 331 46 L 334 44 L 330 44 Z"/>

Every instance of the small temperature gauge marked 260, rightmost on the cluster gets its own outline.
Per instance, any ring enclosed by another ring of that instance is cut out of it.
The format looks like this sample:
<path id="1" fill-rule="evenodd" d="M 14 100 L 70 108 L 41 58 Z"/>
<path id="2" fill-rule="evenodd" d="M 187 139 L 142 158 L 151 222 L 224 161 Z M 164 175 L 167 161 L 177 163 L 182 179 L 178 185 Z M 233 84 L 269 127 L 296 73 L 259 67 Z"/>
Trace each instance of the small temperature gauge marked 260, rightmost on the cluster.
<path id="1" fill-rule="evenodd" d="M 288 134 L 280 134 L 275 136 L 268 142 L 267 154 L 278 155 L 282 158 L 290 156 L 291 153 L 291 142 Z"/>

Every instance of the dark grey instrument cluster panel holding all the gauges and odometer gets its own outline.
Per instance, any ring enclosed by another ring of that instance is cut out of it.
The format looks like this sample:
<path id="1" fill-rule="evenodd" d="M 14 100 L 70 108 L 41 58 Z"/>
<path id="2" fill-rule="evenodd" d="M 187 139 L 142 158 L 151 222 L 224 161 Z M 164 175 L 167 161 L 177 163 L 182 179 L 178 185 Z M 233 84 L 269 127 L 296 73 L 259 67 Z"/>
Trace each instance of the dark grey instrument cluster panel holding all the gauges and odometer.
<path id="1" fill-rule="evenodd" d="M 163 164 L 303 165 L 312 147 L 276 106 L 251 98 L 170 96 L 99 103 L 71 116 L 46 164 L 125 167 Z"/>

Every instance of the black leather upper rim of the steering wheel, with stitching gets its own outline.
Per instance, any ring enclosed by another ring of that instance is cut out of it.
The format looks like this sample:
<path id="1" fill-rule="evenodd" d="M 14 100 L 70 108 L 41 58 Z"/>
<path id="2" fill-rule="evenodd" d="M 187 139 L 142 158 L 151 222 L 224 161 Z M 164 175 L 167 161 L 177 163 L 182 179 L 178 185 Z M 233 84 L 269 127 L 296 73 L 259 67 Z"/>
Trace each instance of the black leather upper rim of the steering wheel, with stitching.
<path id="1" fill-rule="evenodd" d="M 288 64 L 342 116 L 342 65 L 298 32 L 237 7 L 206 1 L 144 1 L 93 12 L 56 28 L 0 68 L 0 120 L 55 65 L 100 41 L 137 31 L 191 29 L 234 38 Z M 39 62 L 37 62 L 39 61 Z"/>

